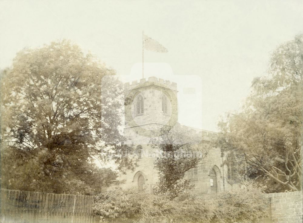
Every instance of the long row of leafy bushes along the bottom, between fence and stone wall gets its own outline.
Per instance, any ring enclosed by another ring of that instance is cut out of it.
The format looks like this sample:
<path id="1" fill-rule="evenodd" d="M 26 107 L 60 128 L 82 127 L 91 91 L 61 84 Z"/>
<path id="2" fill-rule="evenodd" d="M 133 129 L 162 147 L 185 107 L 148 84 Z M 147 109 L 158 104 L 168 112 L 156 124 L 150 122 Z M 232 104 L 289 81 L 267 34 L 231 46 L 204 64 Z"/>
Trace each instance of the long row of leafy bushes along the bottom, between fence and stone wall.
<path id="1" fill-rule="evenodd" d="M 267 216 L 267 199 L 258 189 L 197 197 L 182 193 L 151 195 L 116 189 L 95 198 L 94 212 L 109 222 L 254 222 Z"/>

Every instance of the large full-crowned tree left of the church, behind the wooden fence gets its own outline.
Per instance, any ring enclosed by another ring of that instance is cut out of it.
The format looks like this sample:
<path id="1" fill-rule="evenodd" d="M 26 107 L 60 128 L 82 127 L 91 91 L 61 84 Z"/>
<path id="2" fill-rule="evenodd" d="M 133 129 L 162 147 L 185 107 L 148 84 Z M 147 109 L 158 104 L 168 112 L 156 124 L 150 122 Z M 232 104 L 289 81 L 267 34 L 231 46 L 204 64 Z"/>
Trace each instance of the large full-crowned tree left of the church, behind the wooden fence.
<path id="1" fill-rule="evenodd" d="M 116 178 L 97 159 L 132 167 L 120 155 L 132 148 L 121 144 L 123 88 L 114 75 L 66 40 L 17 54 L 1 77 L 3 187 L 95 193 Z"/>

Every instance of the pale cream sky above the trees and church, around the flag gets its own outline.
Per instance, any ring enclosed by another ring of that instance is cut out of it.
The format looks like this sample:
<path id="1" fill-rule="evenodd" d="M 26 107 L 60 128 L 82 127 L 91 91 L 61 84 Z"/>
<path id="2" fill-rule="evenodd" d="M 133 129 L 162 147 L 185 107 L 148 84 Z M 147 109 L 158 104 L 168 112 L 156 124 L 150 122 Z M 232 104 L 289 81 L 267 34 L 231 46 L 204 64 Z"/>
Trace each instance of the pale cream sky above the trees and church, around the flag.
<path id="1" fill-rule="evenodd" d="M 168 49 L 144 53 L 145 78 L 177 82 L 181 124 L 218 131 L 271 52 L 303 32 L 303 2 L 1 0 L 0 30 L 0 69 L 22 48 L 71 39 L 125 81 L 142 78 L 144 31 Z"/>

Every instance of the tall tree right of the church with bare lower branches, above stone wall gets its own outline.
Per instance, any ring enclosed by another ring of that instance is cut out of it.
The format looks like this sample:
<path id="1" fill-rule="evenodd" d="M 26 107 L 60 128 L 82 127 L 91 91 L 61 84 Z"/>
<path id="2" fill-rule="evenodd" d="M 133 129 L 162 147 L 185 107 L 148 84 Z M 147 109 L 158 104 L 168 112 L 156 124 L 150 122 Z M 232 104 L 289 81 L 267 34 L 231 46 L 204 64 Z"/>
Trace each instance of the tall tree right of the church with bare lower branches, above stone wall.
<path id="1" fill-rule="evenodd" d="M 255 78 L 241 112 L 219 124 L 218 145 L 249 164 L 248 175 L 263 177 L 268 192 L 302 188 L 303 35 L 272 54 L 267 77 Z"/>

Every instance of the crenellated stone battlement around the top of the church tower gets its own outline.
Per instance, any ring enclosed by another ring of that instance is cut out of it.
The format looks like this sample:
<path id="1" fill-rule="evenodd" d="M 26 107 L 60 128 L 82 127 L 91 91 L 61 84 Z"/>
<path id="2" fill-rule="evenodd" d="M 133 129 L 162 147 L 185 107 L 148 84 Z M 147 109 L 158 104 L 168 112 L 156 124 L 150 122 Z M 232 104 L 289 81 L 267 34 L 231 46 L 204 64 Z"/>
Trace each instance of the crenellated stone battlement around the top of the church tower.
<path id="1" fill-rule="evenodd" d="M 155 85 L 158 85 L 158 86 L 165 86 L 171 90 L 174 90 L 174 91 L 177 91 L 177 83 L 175 82 L 170 82 L 168 80 L 164 80 L 164 79 L 161 79 L 161 78 L 157 78 L 157 77 L 149 77 L 148 80 L 146 80 L 145 78 L 142 78 L 140 79 L 140 81 L 133 81 L 133 82 L 126 82 L 124 84 L 124 89 L 125 91 L 129 91 L 129 90 L 132 90 L 136 87 L 140 87 L 140 86 L 144 86 L 145 84 L 148 84 L 148 83 L 153 83 Z"/>

